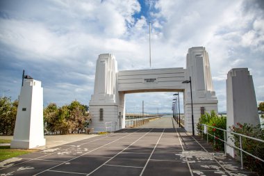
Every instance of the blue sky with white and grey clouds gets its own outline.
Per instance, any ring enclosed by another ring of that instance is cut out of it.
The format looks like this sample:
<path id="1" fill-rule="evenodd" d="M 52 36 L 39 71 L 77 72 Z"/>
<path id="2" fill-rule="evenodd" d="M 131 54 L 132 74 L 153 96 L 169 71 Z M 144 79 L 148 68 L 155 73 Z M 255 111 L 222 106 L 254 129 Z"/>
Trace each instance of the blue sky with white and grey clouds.
<path id="1" fill-rule="evenodd" d="M 44 89 L 44 106 L 89 104 L 99 54 L 118 70 L 184 67 L 190 47 L 206 47 L 219 111 L 226 74 L 248 67 L 264 101 L 264 1 L 1 0 L 0 95 L 17 99 L 22 71 Z M 174 93 L 126 95 L 126 111 L 171 113 Z M 182 94 L 181 101 L 182 101 Z M 181 102 L 182 109 L 182 102 Z"/>

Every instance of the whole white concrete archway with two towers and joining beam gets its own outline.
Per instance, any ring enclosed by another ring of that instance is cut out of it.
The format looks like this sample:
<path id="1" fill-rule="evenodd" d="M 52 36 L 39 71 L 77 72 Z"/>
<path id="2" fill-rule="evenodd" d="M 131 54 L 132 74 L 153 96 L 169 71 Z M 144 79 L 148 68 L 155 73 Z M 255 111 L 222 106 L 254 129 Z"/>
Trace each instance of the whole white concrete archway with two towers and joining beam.
<path id="1" fill-rule="evenodd" d="M 186 68 L 117 71 L 112 54 L 100 54 L 94 80 L 94 94 L 90 100 L 90 114 L 94 131 L 104 131 L 105 122 L 115 122 L 115 129 L 125 127 L 126 93 L 183 92 L 185 129 L 192 131 L 190 85 L 182 83 L 192 78 L 192 101 L 195 126 L 206 112 L 217 112 L 217 97 L 213 90 L 208 53 L 204 47 L 188 49 Z M 119 125 L 121 124 L 121 125 Z"/>

